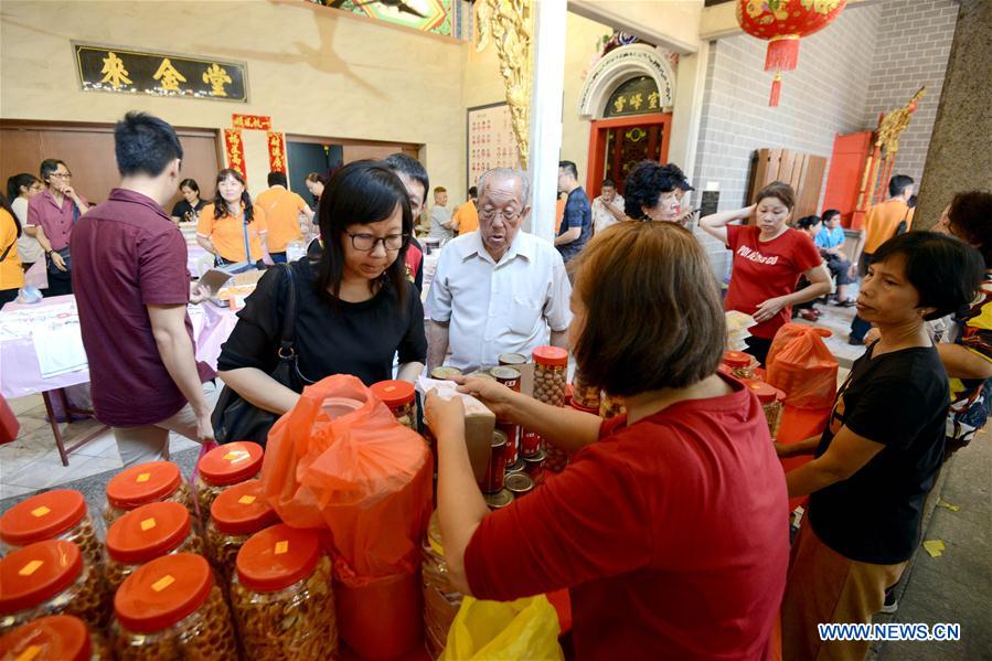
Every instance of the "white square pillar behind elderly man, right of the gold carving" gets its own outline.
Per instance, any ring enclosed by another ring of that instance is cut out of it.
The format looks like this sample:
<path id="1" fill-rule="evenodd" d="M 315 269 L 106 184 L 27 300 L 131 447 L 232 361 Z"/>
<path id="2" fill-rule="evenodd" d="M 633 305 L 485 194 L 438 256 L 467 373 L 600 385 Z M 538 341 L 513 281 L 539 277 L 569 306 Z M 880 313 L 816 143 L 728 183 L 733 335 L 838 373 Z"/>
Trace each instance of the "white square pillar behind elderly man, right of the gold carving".
<path id="1" fill-rule="evenodd" d="M 562 102 L 565 94 L 566 0 L 538 0 L 534 28 L 534 82 L 531 87 L 530 231 L 554 241 L 562 151 Z"/>

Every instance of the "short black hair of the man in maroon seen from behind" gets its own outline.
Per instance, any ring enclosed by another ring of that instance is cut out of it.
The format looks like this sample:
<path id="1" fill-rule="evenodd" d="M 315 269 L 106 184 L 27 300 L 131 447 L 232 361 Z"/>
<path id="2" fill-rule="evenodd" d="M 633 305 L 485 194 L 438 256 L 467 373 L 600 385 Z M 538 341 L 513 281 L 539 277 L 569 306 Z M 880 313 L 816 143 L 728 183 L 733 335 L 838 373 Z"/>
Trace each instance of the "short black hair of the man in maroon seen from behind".
<path id="1" fill-rule="evenodd" d="M 158 177 L 175 159 L 182 145 L 169 122 L 147 113 L 128 113 L 114 127 L 114 153 L 121 177 Z"/>

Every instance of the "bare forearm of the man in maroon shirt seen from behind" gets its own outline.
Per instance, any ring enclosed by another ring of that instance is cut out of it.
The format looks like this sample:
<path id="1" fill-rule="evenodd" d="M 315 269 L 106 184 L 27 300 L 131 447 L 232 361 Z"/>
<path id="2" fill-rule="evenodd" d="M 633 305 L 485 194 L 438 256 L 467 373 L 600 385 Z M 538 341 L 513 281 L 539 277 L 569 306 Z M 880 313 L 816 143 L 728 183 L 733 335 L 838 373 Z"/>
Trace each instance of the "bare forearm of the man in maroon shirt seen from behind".
<path id="1" fill-rule="evenodd" d="M 203 394 L 203 385 L 200 383 L 200 374 L 196 371 L 193 342 L 186 332 L 185 305 L 149 305 L 146 308 L 151 321 L 151 333 L 154 337 L 162 363 L 196 415 L 198 439 L 200 443 L 213 440 L 213 425 L 210 422 L 212 411 Z"/>

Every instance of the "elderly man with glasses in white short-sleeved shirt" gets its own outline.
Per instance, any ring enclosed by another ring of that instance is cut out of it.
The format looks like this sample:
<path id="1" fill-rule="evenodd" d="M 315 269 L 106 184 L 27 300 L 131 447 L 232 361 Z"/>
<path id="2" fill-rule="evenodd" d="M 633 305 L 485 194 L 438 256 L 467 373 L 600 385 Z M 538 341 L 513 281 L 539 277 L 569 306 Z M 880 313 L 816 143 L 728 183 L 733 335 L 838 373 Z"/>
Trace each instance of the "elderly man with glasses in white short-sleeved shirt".
<path id="1" fill-rule="evenodd" d="M 531 212 L 526 173 L 497 168 L 479 179 L 479 232 L 445 247 L 427 295 L 427 367 L 495 365 L 501 353 L 565 347 L 572 286 L 562 255 L 520 231 Z"/>

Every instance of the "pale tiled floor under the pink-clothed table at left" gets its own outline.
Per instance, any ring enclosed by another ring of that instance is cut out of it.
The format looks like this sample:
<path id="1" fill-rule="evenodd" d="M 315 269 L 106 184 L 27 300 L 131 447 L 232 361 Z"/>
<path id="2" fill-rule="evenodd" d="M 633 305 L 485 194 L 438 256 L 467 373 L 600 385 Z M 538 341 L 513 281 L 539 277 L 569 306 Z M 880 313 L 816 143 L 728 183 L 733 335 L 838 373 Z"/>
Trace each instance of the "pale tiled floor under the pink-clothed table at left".
<path id="1" fill-rule="evenodd" d="M 10 405 L 21 430 L 13 443 L 0 446 L 0 500 L 120 468 L 117 444 L 109 430 L 71 452 L 68 466 L 62 466 L 41 396 L 13 399 Z M 93 419 L 61 425 L 66 447 L 99 427 Z M 169 447 L 175 452 L 196 444 L 173 434 Z"/>

